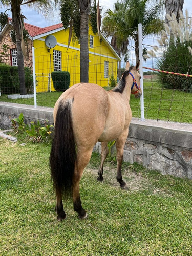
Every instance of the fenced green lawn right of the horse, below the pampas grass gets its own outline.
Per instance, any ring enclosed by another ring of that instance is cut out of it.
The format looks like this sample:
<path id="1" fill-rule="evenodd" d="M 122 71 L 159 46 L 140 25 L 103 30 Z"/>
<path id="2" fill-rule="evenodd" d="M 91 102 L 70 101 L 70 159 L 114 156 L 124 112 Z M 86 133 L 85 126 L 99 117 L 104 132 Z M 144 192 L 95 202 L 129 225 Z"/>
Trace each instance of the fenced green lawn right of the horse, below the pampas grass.
<path id="1" fill-rule="evenodd" d="M 157 81 L 144 80 L 145 118 L 192 123 L 192 95 L 164 89 Z M 134 117 L 140 117 L 140 102 L 131 95 L 130 106 Z"/>

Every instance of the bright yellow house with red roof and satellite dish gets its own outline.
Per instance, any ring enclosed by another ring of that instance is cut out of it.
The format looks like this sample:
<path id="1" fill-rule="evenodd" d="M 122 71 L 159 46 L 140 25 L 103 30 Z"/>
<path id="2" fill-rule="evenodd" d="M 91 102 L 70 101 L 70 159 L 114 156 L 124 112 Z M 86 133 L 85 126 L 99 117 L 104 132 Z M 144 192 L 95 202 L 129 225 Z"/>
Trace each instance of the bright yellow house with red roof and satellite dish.
<path id="1" fill-rule="evenodd" d="M 26 66 L 33 65 L 35 60 L 35 74 L 37 80 L 37 92 L 54 91 L 50 78 L 52 71 L 68 71 L 70 73 L 70 86 L 80 82 L 80 44 L 79 41 L 71 41 L 68 48 L 69 29 L 65 30 L 62 23 L 40 28 L 24 23 L 29 33 L 27 42 L 28 60 Z M 10 46 L 10 59 L 7 63 L 16 66 L 16 45 L 10 38 L 11 19 L 2 32 L 0 47 L 3 44 Z M 34 47 L 34 56 L 32 56 Z M 101 34 L 100 38 L 94 35 L 89 27 L 89 82 L 100 86 L 108 86 L 109 78 L 113 73 L 117 78 L 118 61 L 120 56 L 110 45 L 109 41 Z"/>

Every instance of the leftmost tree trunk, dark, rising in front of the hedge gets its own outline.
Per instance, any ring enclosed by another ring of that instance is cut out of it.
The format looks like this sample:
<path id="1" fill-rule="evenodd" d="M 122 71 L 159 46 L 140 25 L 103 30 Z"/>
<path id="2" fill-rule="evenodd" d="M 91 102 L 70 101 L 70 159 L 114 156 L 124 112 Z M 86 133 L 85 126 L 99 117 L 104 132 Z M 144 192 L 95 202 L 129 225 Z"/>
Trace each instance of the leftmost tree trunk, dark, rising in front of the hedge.
<path id="1" fill-rule="evenodd" d="M 20 82 L 20 94 L 26 95 L 25 88 L 25 72 L 24 72 L 24 56 L 21 48 L 22 35 L 20 31 L 20 5 L 16 5 L 16 12 L 12 11 L 12 25 L 15 30 L 16 46 L 17 46 L 17 64 L 18 77 Z"/>

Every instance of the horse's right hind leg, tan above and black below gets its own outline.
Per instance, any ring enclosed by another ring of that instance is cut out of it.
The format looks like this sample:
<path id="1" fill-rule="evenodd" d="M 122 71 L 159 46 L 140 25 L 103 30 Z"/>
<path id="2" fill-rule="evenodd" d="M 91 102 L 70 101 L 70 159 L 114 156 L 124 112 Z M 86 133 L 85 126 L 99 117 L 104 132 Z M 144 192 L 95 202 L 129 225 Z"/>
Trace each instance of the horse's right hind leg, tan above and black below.
<path id="1" fill-rule="evenodd" d="M 82 208 L 81 199 L 79 194 L 79 182 L 83 173 L 84 168 L 89 163 L 91 158 L 92 150 L 87 152 L 79 152 L 77 157 L 77 167 L 75 168 L 75 173 L 73 177 L 73 206 L 74 210 L 78 213 L 80 219 L 86 219 L 87 213 Z"/>

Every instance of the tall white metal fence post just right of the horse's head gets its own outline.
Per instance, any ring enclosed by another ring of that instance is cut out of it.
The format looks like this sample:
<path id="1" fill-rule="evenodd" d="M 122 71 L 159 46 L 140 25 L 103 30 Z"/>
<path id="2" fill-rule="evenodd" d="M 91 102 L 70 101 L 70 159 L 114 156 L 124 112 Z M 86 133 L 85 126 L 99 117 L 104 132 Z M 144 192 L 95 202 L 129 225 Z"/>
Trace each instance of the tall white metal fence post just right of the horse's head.
<path id="1" fill-rule="evenodd" d="M 139 35 L 139 59 L 140 59 L 139 73 L 141 75 L 140 86 L 142 90 L 142 95 L 140 98 L 141 121 L 144 121 L 145 117 L 144 117 L 144 96 L 143 96 L 143 47 L 142 47 L 142 24 L 141 23 L 138 24 L 138 35 Z"/>

